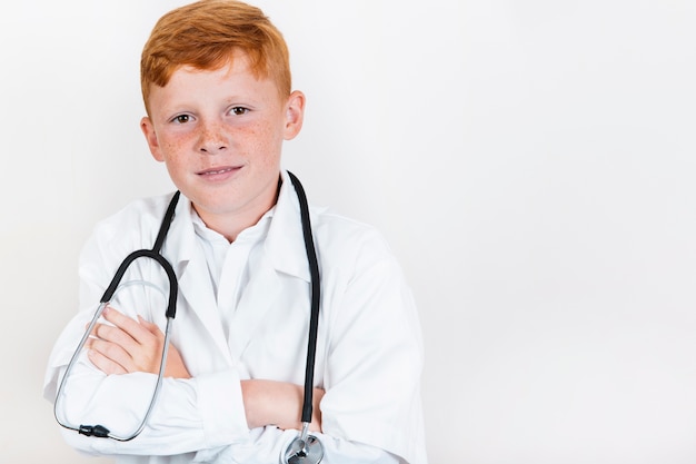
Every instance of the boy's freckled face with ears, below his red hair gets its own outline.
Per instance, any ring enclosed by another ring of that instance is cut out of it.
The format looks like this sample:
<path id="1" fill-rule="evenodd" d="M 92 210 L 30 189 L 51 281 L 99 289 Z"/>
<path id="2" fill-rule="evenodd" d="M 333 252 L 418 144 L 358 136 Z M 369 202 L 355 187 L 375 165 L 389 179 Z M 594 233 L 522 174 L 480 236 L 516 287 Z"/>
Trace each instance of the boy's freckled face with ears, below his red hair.
<path id="1" fill-rule="evenodd" d="M 215 228 L 256 221 L 275 204 L 282 141 L 299 132 L 304 106 L 302 93 L 280 98 L 272 80 L 256 79 L 239 52 L 231 66 L 182 67 L 167 86 L 152 86 L 141 128 L 155 159 Z"/>

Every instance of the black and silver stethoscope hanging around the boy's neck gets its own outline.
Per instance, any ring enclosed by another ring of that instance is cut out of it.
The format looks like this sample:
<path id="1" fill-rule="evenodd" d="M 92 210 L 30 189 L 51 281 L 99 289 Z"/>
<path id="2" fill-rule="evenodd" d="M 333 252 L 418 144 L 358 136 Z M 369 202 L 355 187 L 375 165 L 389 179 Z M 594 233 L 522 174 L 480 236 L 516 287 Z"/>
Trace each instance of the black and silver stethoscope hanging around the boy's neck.
<path id="1" fill-rule="evenodd" d="M 288 445 L 285 452 L 284 461 L 287 464 L 299 464 L 299 463 L 318 464 L 319 462 L 321 462 L 321 458 L 324 457 L 324 446 L 321 445 L 321 442 L 315 435 L 309 434 L 309 424 L 311 423 L 311 414 L 312 414 L 315 354 L 316 354 L 316 348 L 317 348 L 317 327 L 319 324 L 319 302 L 320 302 L 320 293 L 321 293 L 321 283 L 320 283 L 320 276 L 319 276 L 319 265 L 317 263 L 317 251 L 315 248 L 315 243 L 314 243 L 314 238 L 311 234 L 311 223 L 309 219 L 309 206 L 307 204 L 307 196 L 305 195 L 305 189 L 302 188 L 302 185 L 300 184 L 299 179 L 292 172 L 288 171 L 288 175 L 290 177 L 290 180 L 292 181 L 292 185 L 295 186 L 297 198 L 300 205 L 302 236 L 305 239 L 305 249 L 307 251 L 307 261 L 309 264 L 309 274 L 310 274 L 310 282 L 311 282 L 311 310 L 310 310 L 310 317 L 309 317 L 309 336 L 308 336 L 308 342 L 307 342 L 307 364 L 305 366 L 305 394 L 304 394 L 304 403 L 302 403 L 302 414 L 300 417 L 302 426 L 301 426 L 301 431 L 299 435 Z M 162 245 L 165 244 L 165 238 L 167 237 L 167 233 L 169 231 L 171 221 L 173 219 L 175 209 L 176 209 L 177 203 L 179 201 L 179 197 L 180 197 L 179 191 L 177 191 L 172 196 L 171 201 L 169 203 L 169 206 L 167 207 L 167 211 L 165 213 L 165 217 L 162 219 L 160 229 L 157 234 L 157 239 L 155 240 L 155 245 L 152 246 L 152 249 L 136 250 L 131 253 L 130 255 L 128 255 L 126 259 L 123 259 L 123 261 L 117 269 L 113 278 L 111 279 L 111 283 L 107 287 L 106 292 L 103 293 L 100 299 L 99 306 L 97 307 L 97 312 L 95 313 L 95 316 L 92 317 L 92 320 L 88 325 L 87 329 L 84 330 L 84 334 L 82 335 L 82 338 L 80 339 L 80 343 L 78 344 L 78 347 L 72 354 L 72 357 L 70 358 L 70 363 L 68 364 L 68 367 L 66 368 L 66 373 L 60 382 L 60 386 L 58 387 L 58 393 L 56 394 L 56 403 L 53 405 L 53 415 L 56 416 L 56 421 L 58 422 L 58 424 L 60 424 L 62 427 L 71 430 L 71 431 L 76 431 L 81 435 L 95 436 L 99 438 L 112 438 L 119 442 L 128 442 L 130 440 L 133 440 L 145 428 L 150 417 L 150 414 L 152 413 L 152 409 L 155 408 L 155 404 L 157 403 L 157 398 L 159 396 L 159 392 L 162 385 L 162 378 L 165 376 L 165 367 L 167 365 L 167 353 L 169 352 L 170 328 L 171 328 L 171 323 L 177 312 L 177 295 L 179 293 L 179 285 L 177 283 L 177 276 L 173 272 L 173 268 L 171 267 L 171 264 L 169 264 L 169 261 L 161 255 L 160 251 L 161 251 Z M 82 348 L 84 347 L 84 344 L 89 339 L 89 336 L 92 329 L 95 328 L 97 320 L 103 313 L 107 305 L 111 302 L 111 299 L 120 289 L 130 285 L 146 285 L 148 287 L 162 292 L 161 289 L 153 286 L 152 284 L 142 282 L 142 280 L 132 280 L 132 282 L 127 282 L 127 283 L 121 284 L 121 279 L 123 278 L 123 275 L 126 274 L 126 270 L 128 269 L 128 267 L 136 259 L 139 259 L 139 258 L 150 258 L 155 260 L 156 263 L 158 263 L 160 267 L 167 274 L 167 278 L 169 280 L 169 295 L 167 298 L 167 312 L 166 312 L 167 325 L 165 327 L 165 347 L 162 349 L 160 368 L 157 375 L 157 382 L 152 389 L 152 396 L 150 398 L 150 403 L 145 413 L 145 416 L 142 417 L 140 425 L 138 425 L 135 432 L 126 436 L 113 434 L 111 433 L 111 431 L 109 431 L 109 428 L 99 424 L 98 425 L 79 425 L 79 426 L 68 424 L 67 421 L 64 419 L 61 421 L 61 418 L 59 417 L 59 414 L 58 414 L 59 403 L 62 401 L 62 394 L 67 384 L 67 379 L 70 376 L 72 368 Z"/>

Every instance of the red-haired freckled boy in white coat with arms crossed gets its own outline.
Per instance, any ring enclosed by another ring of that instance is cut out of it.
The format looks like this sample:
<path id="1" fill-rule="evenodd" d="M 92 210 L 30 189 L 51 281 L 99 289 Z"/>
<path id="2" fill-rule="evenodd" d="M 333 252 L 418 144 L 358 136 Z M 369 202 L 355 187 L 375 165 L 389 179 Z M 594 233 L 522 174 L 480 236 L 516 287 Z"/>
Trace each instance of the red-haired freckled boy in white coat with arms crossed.
<path id="1" fill-rule="evenodd" d="M 305 109 L 286 43 L 260 10 L 203 0 L 158 21 L 141 83 L 142 132 L 181 191 L 161 248 L 179 285 L 165 379 L 136 438 L 64 437 L 119 463 L 284 462 L 300 428 L 310 307 L 298 199 L 280 167 Z M 96 227 L 80 313 L 49 362 L 50 401 L 117 267 L 152 247 L 170 197 Z M 322 463 L 426 463 L 420 332 L 399 267 L 371 228 L 318 208 L 310 218 L 322 290 L 309 428 Z M 168 286 L 149 260 L 125 280 Z M 143 416 L 166 325 L 143 288 L 112 299 L 92 329 L 57 411 L 68 422 L 128 435 Z"/>

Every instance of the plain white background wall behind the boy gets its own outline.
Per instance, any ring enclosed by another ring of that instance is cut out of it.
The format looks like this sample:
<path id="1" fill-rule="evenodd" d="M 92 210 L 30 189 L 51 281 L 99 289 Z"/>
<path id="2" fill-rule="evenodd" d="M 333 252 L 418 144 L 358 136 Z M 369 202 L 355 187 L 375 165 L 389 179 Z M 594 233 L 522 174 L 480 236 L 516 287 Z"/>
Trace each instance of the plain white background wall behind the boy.
<path id="1" fill-rule="evenodd" d="M 138 65 L 181 3 L 0 14 L 2 462 L 102 462 L 63 444 L 43 369 L 92 225 L 171 189 Z M 257 4 L 308 97 L 286 166 L 412 286 L 430 462 L 696 462 L 696 3 Z"/>

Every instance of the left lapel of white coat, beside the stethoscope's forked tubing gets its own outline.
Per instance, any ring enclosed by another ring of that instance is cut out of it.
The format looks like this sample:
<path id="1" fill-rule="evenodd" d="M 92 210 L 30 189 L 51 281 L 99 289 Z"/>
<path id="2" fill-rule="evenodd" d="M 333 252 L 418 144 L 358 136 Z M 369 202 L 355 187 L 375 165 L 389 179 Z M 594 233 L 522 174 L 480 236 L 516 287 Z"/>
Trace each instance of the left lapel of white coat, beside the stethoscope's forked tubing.
<path id="1" fill-rule="evenodd" d="M 211 342 L 231 361 L 225 339 L 225 333 L 220 324 L 218 305 L 210 282 L 210 273 L 205 255 L 196 240 L 196 231 L 190 220 L 191 206 L 188 198 L 181 197 L 177 206 L 179 219 L 172 221 L 169 237 L 165 243 L 166 253 L 170 257 L 175 272 L 179 279 L 179 298 L 186 300 L 179 308 L 186 312 L 181 319 L 197 317 L 210 334 Z M 178 244 L 176 248 L 167 247 L 167 244 Z M 179 313 L 177 313 L 179 318 Z"/>

